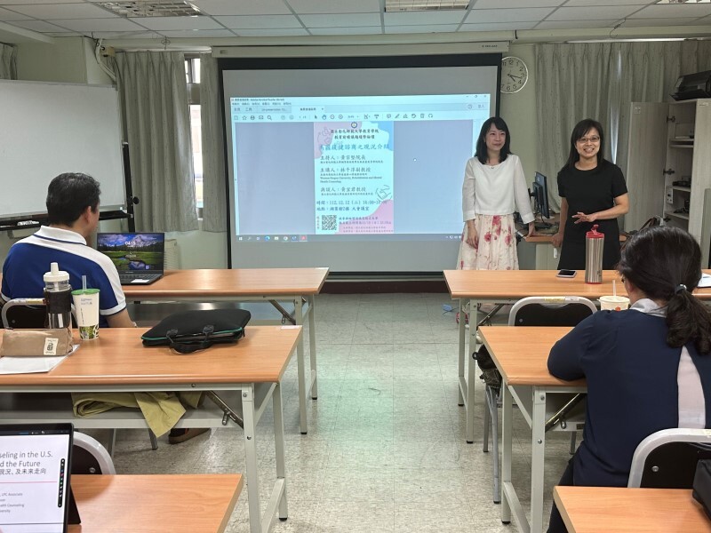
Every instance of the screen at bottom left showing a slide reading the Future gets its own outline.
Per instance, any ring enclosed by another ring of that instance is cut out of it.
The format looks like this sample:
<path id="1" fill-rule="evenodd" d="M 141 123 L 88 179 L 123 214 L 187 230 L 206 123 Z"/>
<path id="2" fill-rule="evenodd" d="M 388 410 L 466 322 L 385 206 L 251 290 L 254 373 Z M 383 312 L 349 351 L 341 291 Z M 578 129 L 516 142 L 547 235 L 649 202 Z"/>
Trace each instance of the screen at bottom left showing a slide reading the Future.
<path id="1" fill-rule="evenodd" d="M 0 531 L 65 533 L 71 424 L 0 426 Z"/>

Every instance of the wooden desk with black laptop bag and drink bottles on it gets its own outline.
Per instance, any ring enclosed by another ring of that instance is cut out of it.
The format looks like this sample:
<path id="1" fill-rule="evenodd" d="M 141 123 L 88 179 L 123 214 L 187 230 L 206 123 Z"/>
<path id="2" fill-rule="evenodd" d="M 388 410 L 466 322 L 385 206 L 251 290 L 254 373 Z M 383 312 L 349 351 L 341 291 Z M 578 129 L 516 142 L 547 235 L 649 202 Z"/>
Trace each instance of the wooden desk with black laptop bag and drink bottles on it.
<path id="1" fill-rule="evenodd" d="M 238 391 L 244 417 L 250 530 L 262 533 L 263 525 L 268 528 L 277 506 L 280 518 L 286 518 L 280 382 L 300 340 L 301 327 L 249 326 L 246 336 L 236 345 L 215 345 L 190 355 L 172 354 L 164 346 L 142 346 L 142 332 L 134 328 L 103 329 L 100 338 L 84 341 L 75 354 L 51 372 L 0 375 L 0 400 L 3 402 L 0 421 L 7 424 L 72 422 L 77 428 L 146 428 L 140 410 L 117 409 L 90 418 L 74 418 L 66 395 L 58 397 L 51 393 Z M 33 394 L 28 398 L 27 395 L 2 393 Z M 270 398 L 274 407 L 276 482 L 262 522 L 256 425 Z M 229 424 L 231 422 L 222 410 L 205 401 L 202 408 L 188 410 L 176 427 L 223 427 Z"/>

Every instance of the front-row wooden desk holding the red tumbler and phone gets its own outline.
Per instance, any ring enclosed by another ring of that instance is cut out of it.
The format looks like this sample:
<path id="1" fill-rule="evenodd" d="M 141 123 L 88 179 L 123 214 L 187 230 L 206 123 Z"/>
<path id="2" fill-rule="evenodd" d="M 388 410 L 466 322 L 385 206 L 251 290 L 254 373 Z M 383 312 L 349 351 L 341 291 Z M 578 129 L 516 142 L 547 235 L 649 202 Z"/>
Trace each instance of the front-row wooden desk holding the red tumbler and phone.
<path id="1" fill-rule="evenodd" d="M 705 270 L 711 274 L 711 270 Z M 625 295 L 625 288 L 614 270 L 603 272 L 603 282 L 587 284 L 585 273 L 579 272 L 574 278 L 559 278 L 556 270 L 445 270 L 451 298 L 459 298 L 459 316 L 469 313 L 469 322 L 478 323 L 476 305 L 480 303 L 513 304 L 527 296 L 582 296 L 595 300 L 612 294 L 612 280 L 617 280 L 619 294 Z M 711 299 L 711 289 L 700 289 L 695 293 L 699 298 Z M 459 405 L 467 408 L 467 442 L 474 442 L 474 384 L 475 365 L 466 354 L 471 354 L 475 346 L 476 328 L 469 330 L 469 349 L 465 337 L 465 321 L 459 321 Z"/>

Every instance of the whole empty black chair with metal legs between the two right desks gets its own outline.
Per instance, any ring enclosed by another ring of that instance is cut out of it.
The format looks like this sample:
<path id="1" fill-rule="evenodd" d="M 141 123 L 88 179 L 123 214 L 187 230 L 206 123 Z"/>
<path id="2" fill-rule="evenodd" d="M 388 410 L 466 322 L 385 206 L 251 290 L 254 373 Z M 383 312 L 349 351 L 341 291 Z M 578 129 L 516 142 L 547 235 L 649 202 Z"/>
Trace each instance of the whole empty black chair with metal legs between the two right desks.
<path id="1" fill-rule="evenodd" d="M 595 313 L 595 304 L 587 298 L 577 296 L 539 297 L 531 296 L 518 300 L 508 314 L 509 326 L 575 326 L 584 318 Z M 498 373 L 498 370 L 497 370 Z M 501 405 L 501 380 L 488 381 L 484 389 L 486 407 L 483 415 L 483 451 L 489 451 L 489 426 L 493 446 L 494 503 L 501 502 L 499 488 L 499 406 Z M 562 410 L 548 420 L 546 431 L 560 425 L 565 428 L 565 415 L 585 397 L 576 394 Z M 575 452 L 575 432 L 571 434 L 571 453 Z"/>

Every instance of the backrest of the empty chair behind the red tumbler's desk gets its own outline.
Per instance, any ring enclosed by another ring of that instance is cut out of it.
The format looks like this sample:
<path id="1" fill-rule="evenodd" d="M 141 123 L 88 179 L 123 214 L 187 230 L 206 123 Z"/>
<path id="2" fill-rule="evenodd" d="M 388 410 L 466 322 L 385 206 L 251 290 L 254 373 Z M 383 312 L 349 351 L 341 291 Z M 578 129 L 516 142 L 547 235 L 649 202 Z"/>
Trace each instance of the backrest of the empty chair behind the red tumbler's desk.
<path id="1" fill-rule="evenodd" d="M 509 326 L 575 326 L 597 311 L 579 296 L 531 296 L 518 300 L 508 314 Z"/>

